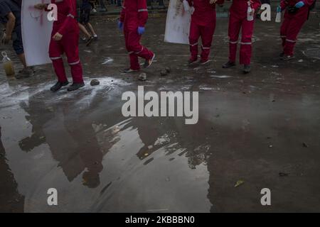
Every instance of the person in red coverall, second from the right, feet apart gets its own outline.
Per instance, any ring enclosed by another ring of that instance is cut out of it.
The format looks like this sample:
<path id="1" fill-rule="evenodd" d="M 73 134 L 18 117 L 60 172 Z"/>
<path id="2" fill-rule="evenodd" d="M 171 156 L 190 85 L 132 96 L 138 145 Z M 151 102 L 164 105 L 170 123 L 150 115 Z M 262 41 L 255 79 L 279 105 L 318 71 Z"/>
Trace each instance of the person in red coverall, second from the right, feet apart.
<path id="1" fill-rule="evenodd" d="M 250 4 L 252 15 L 260 7 L 261 2 L 259 0 L 233 0 L 233 4 L 230 7 L 229 18 L 229 61 L 223 65 L 223 68 L 229 68 L 235 66 L 235 56 L 237 53 L 238 38 L 241 31 L 240 41 L 240 65 L 244 65 L 243 72 L 250 72 L 250 61 L 252 52 L 252 34 L 254 20 L 247 20 L 247 9 Z"/>

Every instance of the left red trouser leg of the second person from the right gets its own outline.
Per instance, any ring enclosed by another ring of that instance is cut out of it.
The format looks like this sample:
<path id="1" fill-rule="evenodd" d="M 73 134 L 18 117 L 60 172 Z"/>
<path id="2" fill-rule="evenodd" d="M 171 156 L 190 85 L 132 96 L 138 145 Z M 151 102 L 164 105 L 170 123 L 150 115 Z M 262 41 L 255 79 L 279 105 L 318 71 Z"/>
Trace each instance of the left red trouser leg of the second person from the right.
<path id="1" fill-rule="evenodd" d="M 229 60 L 235 62 L 235 55 L 237 54 L 237 44 L 240 33 L 241 20 L 237 16 L 237 12 L 230 11 L 229 18 Z"/>

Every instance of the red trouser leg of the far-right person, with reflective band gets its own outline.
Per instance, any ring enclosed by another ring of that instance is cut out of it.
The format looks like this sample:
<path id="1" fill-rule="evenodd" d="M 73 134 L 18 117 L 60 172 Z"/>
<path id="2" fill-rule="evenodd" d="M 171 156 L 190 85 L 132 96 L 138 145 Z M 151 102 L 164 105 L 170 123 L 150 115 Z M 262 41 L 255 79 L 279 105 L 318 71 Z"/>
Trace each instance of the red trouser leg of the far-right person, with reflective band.
<path id="1" fill-rule="evenodd" d="M 308 7 L 304 6 L 299 9 L 298 13 L 292 17 L 291 23 L 287 28 L 287 38 L 284 45 L 284 55 L 294 54 L 294 45 L 296 44 L 297 36 L 302 26 L 308 17 Z"/>

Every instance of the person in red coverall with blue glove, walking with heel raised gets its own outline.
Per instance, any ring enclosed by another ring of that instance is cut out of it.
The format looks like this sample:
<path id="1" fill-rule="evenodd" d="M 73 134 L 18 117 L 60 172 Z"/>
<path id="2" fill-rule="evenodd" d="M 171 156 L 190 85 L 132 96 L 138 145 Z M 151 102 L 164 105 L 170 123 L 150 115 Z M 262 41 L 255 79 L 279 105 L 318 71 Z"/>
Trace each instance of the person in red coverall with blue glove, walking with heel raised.
<path id="1" fill-rule="evenodd" d="M 130 57 L 130 67 L 124 72 L 140 70 L 139 58 L 146 61 L 144 67 L 149 67 L 156 55 L 140 44 L 140 39 L 145 31 L 145 24 L 148 19 L 146 0 L 124 0 L 118 26 L 124 31 L 124 38 L 127 51 Z"/>

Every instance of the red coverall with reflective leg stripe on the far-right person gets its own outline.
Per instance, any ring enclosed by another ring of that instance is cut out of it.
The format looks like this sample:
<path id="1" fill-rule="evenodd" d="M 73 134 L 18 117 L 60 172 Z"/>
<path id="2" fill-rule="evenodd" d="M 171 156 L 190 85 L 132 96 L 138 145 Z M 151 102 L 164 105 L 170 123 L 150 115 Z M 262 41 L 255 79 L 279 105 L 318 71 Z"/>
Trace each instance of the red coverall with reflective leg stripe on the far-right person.
<path id="1" fill-rule="evenodd" d="M 287 6 L 294 6 L 300 0 L 282 0 L 281 9 L 286 9 Z M 290 14 L 287 10 L 284 12 L 284 21 L 280 29 L 282 38 L 282 47 L 284 55 L 294 54 L 294 45 L 296 44 L 297 36 L 304 22 L 308 17 L 309 6 L 314 3 L 314 0 L 303 0 L 304 6 L 298 9 L 297 13 Z"/>

